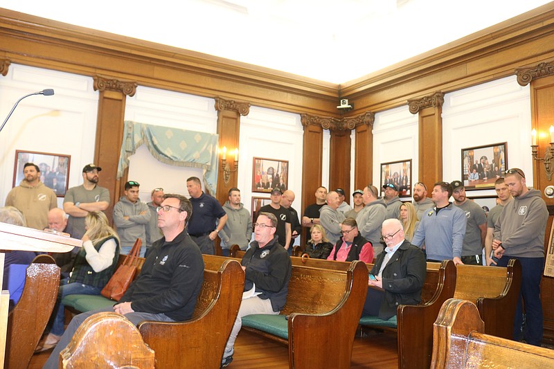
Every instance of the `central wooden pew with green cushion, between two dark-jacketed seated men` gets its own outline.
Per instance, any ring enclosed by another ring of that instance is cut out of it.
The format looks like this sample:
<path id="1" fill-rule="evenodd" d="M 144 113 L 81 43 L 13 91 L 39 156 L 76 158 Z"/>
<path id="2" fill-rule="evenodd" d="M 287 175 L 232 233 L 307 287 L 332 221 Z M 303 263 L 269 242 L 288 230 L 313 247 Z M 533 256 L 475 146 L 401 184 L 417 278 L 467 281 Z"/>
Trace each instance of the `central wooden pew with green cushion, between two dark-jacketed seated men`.
<path id="1" fill-rule="evenodd" d="M 280 315 L 244 316 L 242 329 L 288 345 L 289 368 L 350 368 L 367 280 L 364 262 L 348 271 L 294 265 Z"/>

